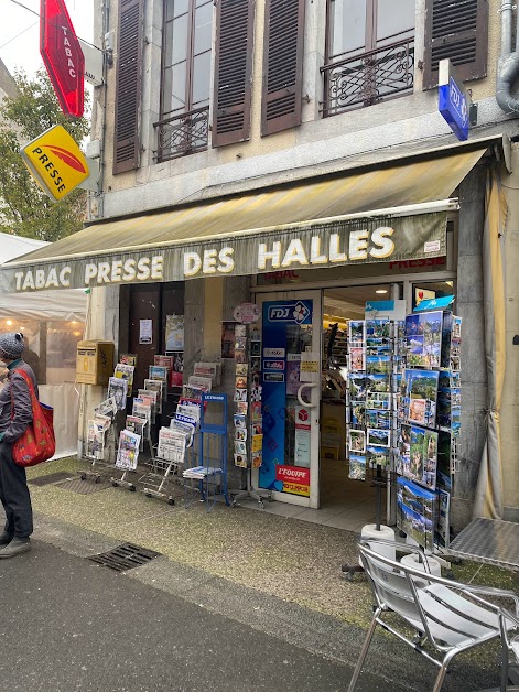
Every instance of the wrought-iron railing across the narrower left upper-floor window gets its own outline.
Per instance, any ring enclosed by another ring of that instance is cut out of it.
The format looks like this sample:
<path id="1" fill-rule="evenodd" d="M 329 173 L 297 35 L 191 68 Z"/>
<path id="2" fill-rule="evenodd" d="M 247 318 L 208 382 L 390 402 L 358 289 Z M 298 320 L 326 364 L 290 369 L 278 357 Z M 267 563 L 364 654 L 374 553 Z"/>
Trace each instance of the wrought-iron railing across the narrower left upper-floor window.
<path id="1" fill-rule="evenodd" d="M 180 116 L 154 122 L 158 131 L 156 161 L 167 161 L 177 156 L 207 149 L 209 132 L 209 107 L 196 108 Z"/>

